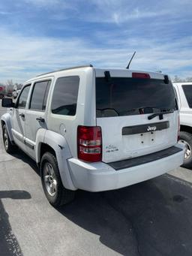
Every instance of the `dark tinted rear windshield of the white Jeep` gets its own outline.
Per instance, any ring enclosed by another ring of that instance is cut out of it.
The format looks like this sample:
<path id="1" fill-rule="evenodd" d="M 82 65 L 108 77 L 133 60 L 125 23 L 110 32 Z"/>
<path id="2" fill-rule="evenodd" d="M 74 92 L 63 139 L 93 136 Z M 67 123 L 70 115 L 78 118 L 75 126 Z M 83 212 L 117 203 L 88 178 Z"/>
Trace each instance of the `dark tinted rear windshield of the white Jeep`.
<path id="1" fill-rule="evenodd" d="M 132 77 L 96 78 L 97 117 L 130 116 L 177 109 L 172 83 Z"/>

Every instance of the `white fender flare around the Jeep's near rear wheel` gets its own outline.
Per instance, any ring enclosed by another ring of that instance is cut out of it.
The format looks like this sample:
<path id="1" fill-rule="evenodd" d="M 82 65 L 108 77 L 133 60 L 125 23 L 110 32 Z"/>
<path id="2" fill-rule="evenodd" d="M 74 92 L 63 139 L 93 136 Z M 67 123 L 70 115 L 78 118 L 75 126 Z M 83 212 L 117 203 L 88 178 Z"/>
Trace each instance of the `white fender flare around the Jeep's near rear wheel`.
<path id="1" fill-rule="evenodd" d="M 46 143 L 55 151 L 55 155 L 58 161 L 58 170 L 64 187 L 71 190 L 77 190 L 77 188 L 74 187 L 70 170 L 68 168 L 67 159 L 71 158 L 72 155 L 65 137 L 63 137 L 61 134 L 55 133 L 55 131 L 46 130 L 43 143 Z M 37 162 L 39 162 L 40 150 L 37 149 L 37 152 L 39 152 L 37 156 Z"/>

